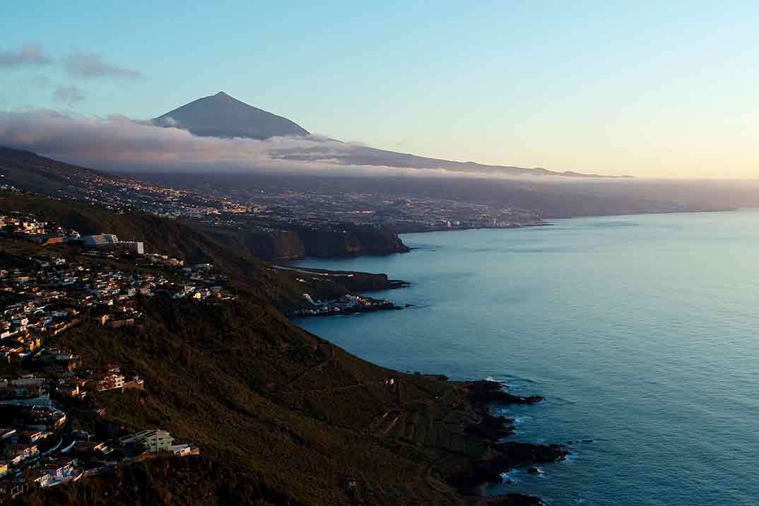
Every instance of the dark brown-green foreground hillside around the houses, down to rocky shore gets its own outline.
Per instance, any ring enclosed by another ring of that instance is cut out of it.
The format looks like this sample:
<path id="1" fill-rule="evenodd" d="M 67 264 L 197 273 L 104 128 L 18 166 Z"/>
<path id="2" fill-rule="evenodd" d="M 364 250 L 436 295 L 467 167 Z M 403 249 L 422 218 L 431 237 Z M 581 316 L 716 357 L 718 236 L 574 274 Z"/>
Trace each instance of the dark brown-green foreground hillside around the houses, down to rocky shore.
<path id="1" fill-rule="evenodd" d="M 107 226 L 178 253 L 218 248 L 202 234 L 149 215 L 23 195 L 4 196 L 3 209 L 57 212 L 58 221 L 83 230 Z M 7 268 L 32 250 L 67 247 L 4 238 L 0 248 Z M 87 404 L 68 410 L 73 428 L 103 440 L 167 429 L 195 442 L 203 456 L 121 464 L 25 495 L 19 504 L 474 504 L 482 480 L 516 464 L 562 457 L 560 449 L 497 444 L 509 433 L 508 420 L 487 416 L 486 403 L 539 399 L 481 388 L 474 393 L 479 387 L 358 359 L 282 316 L 272 306 L 279 292 L 267 291 L 280 278 L 265 278 L 270 271 L 260 262 L 246 265 L 256 274 L 246 278 L 253 289 L 238 281 L 236 300 L 137 297 L 139 322 L 119 329 L 102 326 L 83 308 L 80 325 L 54 341 L 83 363 L 118 363 L 137 372 L 146 385 L 144 391 L 93 392 Z M 103 416 L 93 415 L 102 408 Z M 523 500 L 502 504 L 534 504 Z"/>

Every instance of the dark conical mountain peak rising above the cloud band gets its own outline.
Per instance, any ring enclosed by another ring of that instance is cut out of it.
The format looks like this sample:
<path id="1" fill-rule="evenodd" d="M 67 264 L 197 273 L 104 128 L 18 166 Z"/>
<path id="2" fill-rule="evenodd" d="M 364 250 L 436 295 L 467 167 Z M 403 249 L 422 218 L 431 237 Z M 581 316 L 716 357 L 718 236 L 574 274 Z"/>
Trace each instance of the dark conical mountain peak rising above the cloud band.
<path id="1" fill-rule="evenodd" d="M 308 131 L 300 125 L 247 105 L 220 91 L 197 99 L 153 119 L 160 127 L 178 127 L 203 137 L 269 137 L 303 136 Z"/>

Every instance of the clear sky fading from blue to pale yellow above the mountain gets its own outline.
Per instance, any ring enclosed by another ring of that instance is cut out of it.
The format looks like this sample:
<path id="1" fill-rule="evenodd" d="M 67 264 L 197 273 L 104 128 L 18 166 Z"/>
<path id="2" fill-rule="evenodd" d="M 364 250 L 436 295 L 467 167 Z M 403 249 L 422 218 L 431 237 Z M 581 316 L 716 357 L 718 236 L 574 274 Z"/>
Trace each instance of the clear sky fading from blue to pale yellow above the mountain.
<path id="1" fill-rule="evenodd" d="M 142 120 L 223 90 L 421 156 L 759 178 L 759 2 L 74 3 L 3 2 L 0 112 Z"/>

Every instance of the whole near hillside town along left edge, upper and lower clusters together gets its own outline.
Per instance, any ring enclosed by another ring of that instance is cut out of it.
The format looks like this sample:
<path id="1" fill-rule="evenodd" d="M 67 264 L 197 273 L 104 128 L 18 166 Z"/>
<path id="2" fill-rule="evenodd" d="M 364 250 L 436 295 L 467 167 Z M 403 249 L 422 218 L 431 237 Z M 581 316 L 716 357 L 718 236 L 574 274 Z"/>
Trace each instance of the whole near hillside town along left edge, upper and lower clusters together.
<path id="1" fill-rule="evenodd" d="M 90 406 L 91 395 L 139 393 L 150 385 L 139 371 L 85 363 L 56 341 L 83 319 L 109 329 L 137 325 L 138 297 L 234 300 L 225 275 L 210 263 L 185 265 L 146 253 L 142 242 L 115 234 L 83 236 L 34 215 L 0 216 L 4 240 L 39 247 L 0 269 L 0 501 L 133 460 L 200 454 L 192 442 L 177 442 L 160 427 L 124 433 L 109 425 L 104 410 Z M 52 249 L 61 244 L 77 246 L 77 254 Z M 124 269 L 127 263 L 134 269 Z M 72 418 L 96 423 L 83 429 Z"/>

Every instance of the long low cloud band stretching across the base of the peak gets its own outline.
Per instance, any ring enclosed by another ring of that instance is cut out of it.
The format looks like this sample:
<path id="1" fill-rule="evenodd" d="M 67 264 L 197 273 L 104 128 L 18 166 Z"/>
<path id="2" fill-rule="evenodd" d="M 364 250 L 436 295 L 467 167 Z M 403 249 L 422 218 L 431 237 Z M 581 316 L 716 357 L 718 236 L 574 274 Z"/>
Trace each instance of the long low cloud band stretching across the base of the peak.
<path id="1" fill-rule="evenodd" d="M 469 178 L 515 175 L 509 168 L 489 170 L 483 165 L 422 159 L 329 137 L 197 137 L 187 130 L 124 116 L 96 118 L 54 111 L 0 112 L 0 146 L 115 171 L 308 171 Z"/>

